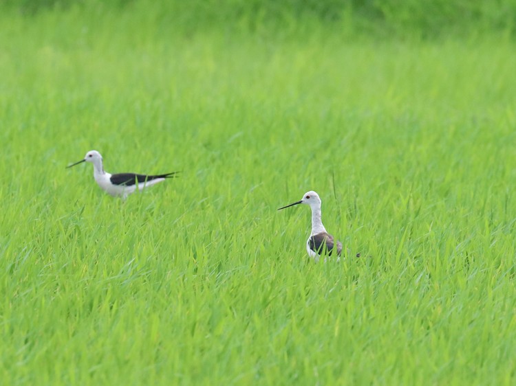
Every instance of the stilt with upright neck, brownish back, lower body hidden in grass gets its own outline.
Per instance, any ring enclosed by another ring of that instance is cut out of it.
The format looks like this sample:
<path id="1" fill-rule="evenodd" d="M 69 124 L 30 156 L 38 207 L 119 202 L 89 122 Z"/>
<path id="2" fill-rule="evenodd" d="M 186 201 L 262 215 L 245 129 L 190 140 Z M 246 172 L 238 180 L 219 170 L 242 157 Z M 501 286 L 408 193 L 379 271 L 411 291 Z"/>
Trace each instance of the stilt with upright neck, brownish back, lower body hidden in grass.
<path id="1" fill-rule="evenodd" d="M 312 232 L 310 237 L 306 240 L 306 251 L 311 258 L 314 258 L 315 262 L 319 262 L 321 255 L 331 256 L 332 253 L 336 253 L 338 256 L 337 261 L 340 260 L 342 253 L 342 242 L 335 241 L 333 236 L 330 235 L 321 221 L 321 198 L 319 194 L 310 190 L 303 195 L 300 201 L 280 207 L 278 210 L 285 209 L 299 204 L 308 204 L 312 208 Z M 356 257 L 360 257 L 360 253 L 357 253 Z M 325 259 L 326 260 L 326 259 Z"/>

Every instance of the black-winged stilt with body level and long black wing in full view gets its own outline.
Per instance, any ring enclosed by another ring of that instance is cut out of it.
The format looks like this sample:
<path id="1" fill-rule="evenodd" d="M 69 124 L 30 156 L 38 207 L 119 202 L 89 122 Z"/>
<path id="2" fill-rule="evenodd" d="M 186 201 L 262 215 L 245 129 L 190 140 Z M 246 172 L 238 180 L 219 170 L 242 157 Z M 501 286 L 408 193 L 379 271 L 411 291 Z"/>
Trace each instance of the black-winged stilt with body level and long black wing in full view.
<path id="1" fill-rule="evenodd" d="M 109 174 L 104 170 L 102 155 L 96 150 L 90 150 L 86 153 L 84 159 L 67 166 L 67 168 L 72 168 L 72 166 L 82 162 L 93 163 L 93 177 L 100 188 L 107 192 L 107 194 L 114 197 L 122 197 L 122 199 L 127 198 L 129 194 L 136 190 L 143 190 L 158 182 L 165 181 L 167 178 L 173 178 L 178 173 L 171 172 L 154 175 L 136 173 Z"/>

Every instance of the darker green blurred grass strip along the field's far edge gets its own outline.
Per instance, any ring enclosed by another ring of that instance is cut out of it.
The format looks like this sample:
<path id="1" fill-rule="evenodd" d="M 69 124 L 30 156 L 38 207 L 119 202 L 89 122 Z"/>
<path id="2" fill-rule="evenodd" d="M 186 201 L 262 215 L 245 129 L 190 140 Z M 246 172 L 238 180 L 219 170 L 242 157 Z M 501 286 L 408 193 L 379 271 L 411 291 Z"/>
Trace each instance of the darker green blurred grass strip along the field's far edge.
<path id="1" fill-rule="evenodd" d="M 173 25 L 175 32 L 297 35 L 321 25 L 347 36 L 442 38 L 497 33 L 514 37 L 513 0 L 3 0 L 0 9 L 28 17 L 77 10 L 81 14 L 133 14 Z"/>

